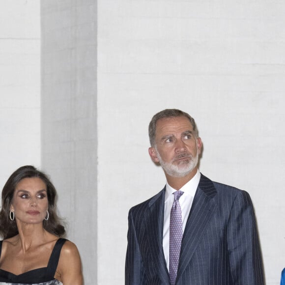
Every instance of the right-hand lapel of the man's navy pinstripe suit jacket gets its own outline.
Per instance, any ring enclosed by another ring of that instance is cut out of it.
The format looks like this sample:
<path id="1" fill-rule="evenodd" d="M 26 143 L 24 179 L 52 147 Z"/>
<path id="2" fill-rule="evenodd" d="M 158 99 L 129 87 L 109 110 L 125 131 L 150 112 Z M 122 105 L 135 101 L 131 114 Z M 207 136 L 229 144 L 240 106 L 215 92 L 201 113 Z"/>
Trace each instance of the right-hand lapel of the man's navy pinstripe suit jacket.
<path id="1" fill-rule="evenodd" d="M 213 199 L 216 194 L 217 191 L 213 182 L 201 174 L 196 195 L 183 233 L 177 281 L 195 253 L 203 232 L 210 221 L 212 212 L 216 208 L 215 199 Z"/>

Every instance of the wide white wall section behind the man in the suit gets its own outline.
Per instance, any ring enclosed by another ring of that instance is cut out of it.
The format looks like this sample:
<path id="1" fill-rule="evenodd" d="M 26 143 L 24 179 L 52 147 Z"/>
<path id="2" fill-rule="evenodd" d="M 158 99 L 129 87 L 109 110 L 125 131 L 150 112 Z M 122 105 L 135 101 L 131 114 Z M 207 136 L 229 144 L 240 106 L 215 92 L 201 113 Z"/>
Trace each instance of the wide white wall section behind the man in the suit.
<path id="1" fill-rule="evenodd" d="M 128 209 L 164 186 L 147 127 L 165 108 L 196 118 L 203 174 L 250 193 L 267 285 L 280 284 L 284 9 L 263 0 L 98 1 L 99 285 L 123 284 Z"/>

